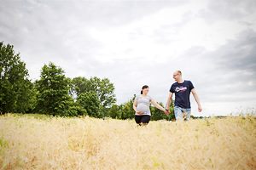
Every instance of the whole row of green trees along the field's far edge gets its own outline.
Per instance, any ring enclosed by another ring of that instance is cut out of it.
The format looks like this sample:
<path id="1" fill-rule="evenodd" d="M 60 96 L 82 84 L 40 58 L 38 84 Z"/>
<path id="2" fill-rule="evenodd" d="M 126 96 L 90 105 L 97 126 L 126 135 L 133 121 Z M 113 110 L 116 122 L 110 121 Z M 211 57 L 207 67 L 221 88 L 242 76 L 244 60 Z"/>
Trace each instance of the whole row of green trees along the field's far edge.
<path id="1" fill-rule="evenodd" d="M 60 66 L 49 62 L 42 67 L 40 78 L 32 82 L 20 54 L 15 54 L 13 45 L 3 42 L 0 42 L 0 72 L 1 114 L 41 113 L 116 119 L 131 119 L 135 114 L 132 104 L 136 96 L 117 105 L 114 85 L 108 78 L 69 78 Z M 174 117 L 154 107 L 150 110 L 152 120 Z"/>

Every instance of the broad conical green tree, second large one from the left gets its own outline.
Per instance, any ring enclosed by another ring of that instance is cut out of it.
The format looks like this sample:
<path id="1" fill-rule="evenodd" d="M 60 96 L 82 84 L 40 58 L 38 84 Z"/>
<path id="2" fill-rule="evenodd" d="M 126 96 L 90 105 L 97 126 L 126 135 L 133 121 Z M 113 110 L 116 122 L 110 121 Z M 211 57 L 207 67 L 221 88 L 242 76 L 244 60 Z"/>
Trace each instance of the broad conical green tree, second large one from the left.
<path id="1" fill-rule="evenodd" d="M 65 77 L 61 67 L 51 62 L 44 65 L 40 80 L 36 82 L 37 110 L 54 116 L 77 116 L 73 99 L 68 94 L 70 84 L 70 79 Z"/>

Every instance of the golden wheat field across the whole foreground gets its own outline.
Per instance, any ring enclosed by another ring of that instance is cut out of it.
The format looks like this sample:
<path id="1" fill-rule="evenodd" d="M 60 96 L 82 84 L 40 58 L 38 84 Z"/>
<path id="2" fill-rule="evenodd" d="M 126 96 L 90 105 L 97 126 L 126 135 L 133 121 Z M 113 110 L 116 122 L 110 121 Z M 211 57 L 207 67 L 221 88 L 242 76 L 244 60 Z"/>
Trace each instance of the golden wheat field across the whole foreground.
<path id="1" fill-rule="evenodd" d="M 2 169 L 256 169 L 256 118 L 0 116 Z"/>

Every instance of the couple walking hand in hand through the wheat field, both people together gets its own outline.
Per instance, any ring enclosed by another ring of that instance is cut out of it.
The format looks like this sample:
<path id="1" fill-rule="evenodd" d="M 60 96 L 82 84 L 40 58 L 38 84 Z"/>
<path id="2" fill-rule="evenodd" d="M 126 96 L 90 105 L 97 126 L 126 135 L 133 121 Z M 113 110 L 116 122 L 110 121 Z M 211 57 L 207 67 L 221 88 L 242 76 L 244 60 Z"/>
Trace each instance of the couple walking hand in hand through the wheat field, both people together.
<path id="1" fill-rule="evenodd" d="M 163 111 L 166 115 L 170 114 L 169 107 L 172 102 L 172 95 L 175 94 L 175 102 L 174 102 L 174 115 L 177 121 L 188 121 L 190 118 L 191 107 L 189 96 L 190 93 L 193 94 L 195 101 L 198 105 L 198 111 L 201 112 L 201 103 L 198 98 L 198 95 L 195 92 L 195 88 L 192 82 L 188 80 L 183 80 L 182 72 L 175 71 L 173 73 L 173 79 L 176 81 L 172 84 L 170 88 L 170 92 L 168 95 L 168 99 L 166 102 L 166 109 L 159 105 L 154 99 L 148 96 L 148 86 L 145 85 L 142 88 L 140 96 L 137 96 L 133 102 L 133 109 L 135 113 L 135 121 L 139 125 L 148 124 L 150 121 L 150 110 L 149 105 L 153 104 L 160 111 Z"/>

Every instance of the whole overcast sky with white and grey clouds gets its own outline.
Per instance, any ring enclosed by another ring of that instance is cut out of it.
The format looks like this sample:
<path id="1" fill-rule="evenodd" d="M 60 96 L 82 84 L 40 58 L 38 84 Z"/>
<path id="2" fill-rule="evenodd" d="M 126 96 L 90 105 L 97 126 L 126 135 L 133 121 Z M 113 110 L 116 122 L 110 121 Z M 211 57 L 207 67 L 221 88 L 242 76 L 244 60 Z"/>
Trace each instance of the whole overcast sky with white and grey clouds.
<path id="1" fill-rule="evenodd" d="M 32 80 L 49 61 L 67 77 L 108 77 L 118 104 L 149 86 L 166 103 L 183 71 L 202 113 L 255 111 L 256 1 L 0 2 L 0 41 L 13 44 Z"/>

